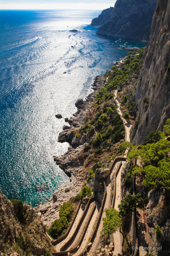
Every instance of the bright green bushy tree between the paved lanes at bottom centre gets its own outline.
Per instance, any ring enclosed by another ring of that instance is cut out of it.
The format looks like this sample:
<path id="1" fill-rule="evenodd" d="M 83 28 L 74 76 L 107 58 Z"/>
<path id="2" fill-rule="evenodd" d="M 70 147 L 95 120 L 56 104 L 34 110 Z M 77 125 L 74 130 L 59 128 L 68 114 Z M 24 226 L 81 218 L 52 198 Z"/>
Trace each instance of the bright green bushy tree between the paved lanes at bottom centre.
<path id="1" fill-rule="evenodd" d="M 102 218 L 104 233 L 115 233 L 122 225 L 122 219 L 119 212 L 115 209 L 106 209 L 106 218 Z"/>

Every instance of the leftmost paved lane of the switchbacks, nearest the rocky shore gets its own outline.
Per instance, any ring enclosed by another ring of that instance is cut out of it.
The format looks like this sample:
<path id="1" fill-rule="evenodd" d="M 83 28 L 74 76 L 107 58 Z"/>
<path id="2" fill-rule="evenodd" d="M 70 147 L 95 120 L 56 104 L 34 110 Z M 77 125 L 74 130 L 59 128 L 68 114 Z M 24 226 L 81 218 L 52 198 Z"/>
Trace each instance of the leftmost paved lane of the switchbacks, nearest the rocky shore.
<path id="1" fill-rule="evenodd" d="M 63 239 L 60 243 L 56 244 L 56 246 L 54 247 L 57 252 L 59 252 L 60 248 L 72 237 L 72 235 L 79 223 L 79 220 L 82 217 L 82 214 L 83 214 L 83 205 L 81 204 L 79 212 L 77 213 L 77 216 L 75 218 L 73 226 L 72 226 L 70 232 L 68 233 L 67 237 L 65 239 Z"/>

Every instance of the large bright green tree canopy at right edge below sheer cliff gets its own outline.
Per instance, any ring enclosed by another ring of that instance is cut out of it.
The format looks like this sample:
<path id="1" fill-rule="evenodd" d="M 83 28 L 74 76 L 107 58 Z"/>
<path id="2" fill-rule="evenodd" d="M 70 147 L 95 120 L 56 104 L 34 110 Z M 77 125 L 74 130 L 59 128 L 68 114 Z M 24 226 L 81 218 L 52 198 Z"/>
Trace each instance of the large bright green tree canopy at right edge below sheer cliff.
<path id="1" fill-rule="evenodd" d="M 153 134 L 153 133 L 152 133 Z M 162 133 L 154 133 L 154 136 L 164 136 Z M 152 136 L 156 140 L 156 137 Z M 147 137 L 147 140 L 149 136 Z M 150 140 L 150 139 L 149 139 Z M 164 187 L 170 189 L 170 141 L 161 139 L 156 143 L 148 143 L 138 150 L 128 152 L 127 159 L 140 159 L 143 165 L 145 180 L 143 184 L 148 188 Z M 140 168 L 140 167 L 139 167 Z M 136 169 L 136 172 L 142 171 Z M 135 171 L 135 170 L 134 170 Z M 135 173 L 134 173 L 135 174 Z"/>

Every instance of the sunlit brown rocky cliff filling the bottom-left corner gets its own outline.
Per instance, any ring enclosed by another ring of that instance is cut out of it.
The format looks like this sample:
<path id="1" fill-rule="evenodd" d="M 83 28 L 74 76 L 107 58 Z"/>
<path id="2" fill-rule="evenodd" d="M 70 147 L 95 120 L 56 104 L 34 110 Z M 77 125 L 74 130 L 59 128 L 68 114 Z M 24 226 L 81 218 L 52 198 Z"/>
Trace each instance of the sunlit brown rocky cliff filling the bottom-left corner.
<path id="1" fill-rule="evenodd" d="M 44 255 L 49 251 L 45 226 L 31 206 L 19 206 L 14 207 L 0 190 L 0 255 Z"/>

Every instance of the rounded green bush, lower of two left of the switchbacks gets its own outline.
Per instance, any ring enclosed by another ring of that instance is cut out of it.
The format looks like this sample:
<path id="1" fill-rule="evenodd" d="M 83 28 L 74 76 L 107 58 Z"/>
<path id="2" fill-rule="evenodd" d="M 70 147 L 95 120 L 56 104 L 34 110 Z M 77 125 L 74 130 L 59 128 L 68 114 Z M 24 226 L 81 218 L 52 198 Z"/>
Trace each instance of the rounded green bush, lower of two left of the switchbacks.
<path id="1" fill-rule="evenodd" d="M 55 235 L 61 234 L 61 232 L 64 229 L 67 229 L 69 225 L 69 222 L 65 216 L 62 216 L 59 219 L 56 219 L 52 224 L 51 224 L 51 233 Z"/>

